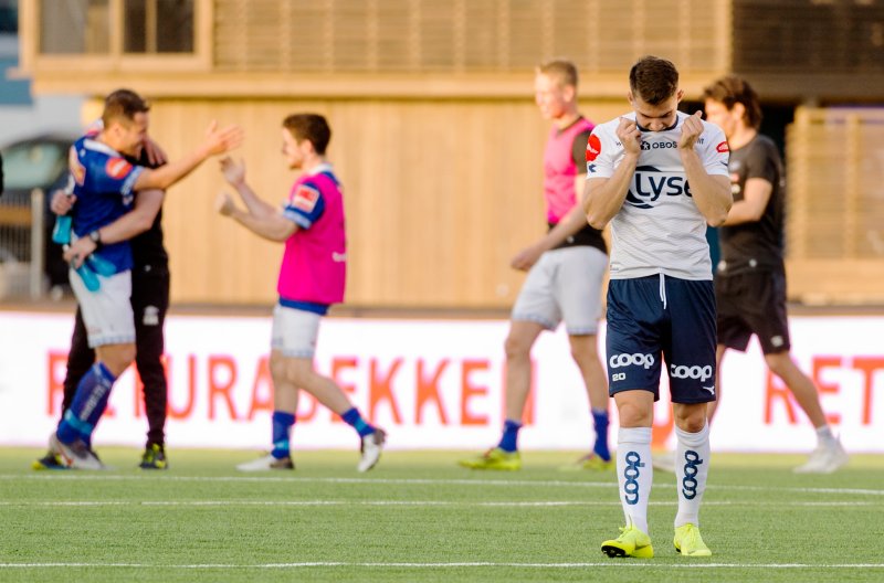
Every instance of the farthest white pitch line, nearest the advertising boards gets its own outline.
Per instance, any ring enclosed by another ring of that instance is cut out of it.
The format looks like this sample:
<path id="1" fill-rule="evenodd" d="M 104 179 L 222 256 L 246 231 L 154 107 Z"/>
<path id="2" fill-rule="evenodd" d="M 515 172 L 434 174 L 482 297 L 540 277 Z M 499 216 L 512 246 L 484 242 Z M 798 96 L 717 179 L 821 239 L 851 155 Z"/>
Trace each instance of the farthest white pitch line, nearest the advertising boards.
<path id="1" fill-rule="evenodd" d="M 567 480 L 503 480 L 503 479 L 424 479 L 424 478 L 309 478 L 303 476 L 146 476 L 131 475 L 118 476 L 103 473 L 78 470 L 52 470 L 39 474 L 0 474 L 0 479 L 29 479 L 29 480 L 97 480 L 97 481 L 128 481 L 128 480 L 157 480 L 157 481 L 198 481 L 198 483 L 316 483 L 316 484 L 383 484 L 383 485 L 428 485 L 428 486 L 511 486 L 511 487 L 565 487 L 565 488 L 611 488 L 615 489 L 613 481 L 567 481 Z M 654 484 L 654 488 L 674 488 L 674 484 Z M 713 490 L 734 491 L 779 491 L 792 494 L 854 494 L 857 496 L 884 496 L 884 489 L 873 490 L 867 488 L 798 488 L 798 487 L 770 487 L 770 486 L 739 486 L 727 484 L 712 484 Z M 705 502 L 704 502 L 705 504 Z"/>

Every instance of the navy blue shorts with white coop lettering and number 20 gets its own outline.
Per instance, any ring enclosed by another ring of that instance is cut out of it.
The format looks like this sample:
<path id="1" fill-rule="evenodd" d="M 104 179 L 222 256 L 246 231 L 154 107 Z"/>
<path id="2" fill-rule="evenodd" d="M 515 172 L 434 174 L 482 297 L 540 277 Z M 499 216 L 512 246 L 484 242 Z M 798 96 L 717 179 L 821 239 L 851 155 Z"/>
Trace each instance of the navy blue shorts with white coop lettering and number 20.
<path id="1" fill-rule="evenodd" d="M 673 403 L 715 401 L 715 343 L 712 280 L 662 274 L 611 279 L 606 341 L 611 396 L 638 389 L 657 401 L 665 361 Z"/>

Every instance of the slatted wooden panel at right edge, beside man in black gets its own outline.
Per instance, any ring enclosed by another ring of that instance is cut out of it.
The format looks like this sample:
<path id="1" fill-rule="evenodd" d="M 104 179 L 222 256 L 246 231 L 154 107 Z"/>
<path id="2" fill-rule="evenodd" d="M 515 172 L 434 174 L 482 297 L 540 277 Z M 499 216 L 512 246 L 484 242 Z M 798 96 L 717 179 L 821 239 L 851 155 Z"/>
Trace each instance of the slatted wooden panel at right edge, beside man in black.
<path id="1" fill-rule="evenodd" d="M 884 108 L 800 107 L 786 151 L 790 297 L 884 303 Z"/>

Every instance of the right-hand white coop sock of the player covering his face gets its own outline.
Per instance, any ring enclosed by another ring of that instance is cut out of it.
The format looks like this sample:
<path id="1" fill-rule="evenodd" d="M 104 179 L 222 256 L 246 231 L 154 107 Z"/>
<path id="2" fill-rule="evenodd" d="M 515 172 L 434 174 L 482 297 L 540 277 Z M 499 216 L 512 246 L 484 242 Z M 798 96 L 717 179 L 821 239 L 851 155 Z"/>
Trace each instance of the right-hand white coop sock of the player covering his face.
<path id="1" fill-rule="evenodd" d="M 699 526 L 699 504 L 706 491 L 709 475 L 709 424 L 697 433 L 675 427 L 675 489 L 678 492 L 678 513 L 675 528 L 692 523 Z"/>

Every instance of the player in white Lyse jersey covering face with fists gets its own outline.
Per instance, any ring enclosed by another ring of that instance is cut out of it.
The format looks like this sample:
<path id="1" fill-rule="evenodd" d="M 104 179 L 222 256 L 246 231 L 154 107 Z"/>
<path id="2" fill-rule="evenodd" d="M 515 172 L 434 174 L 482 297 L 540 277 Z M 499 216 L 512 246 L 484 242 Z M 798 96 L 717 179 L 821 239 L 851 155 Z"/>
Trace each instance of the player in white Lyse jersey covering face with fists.
<path id="1" fill-rule="evenodd" d="M 677 110 L 678 72 L 663 59 L 633 65 L 633 112 L 597 126 L 587 145 L 583 209 L 596 229 L 611 223 L 607 358 L 620 417 L 617 473 L 627 526 L 601 550 L 654 555 L 648 536 L 654 402 L 665 361 L 677 436 L 675 550 L 712 554 L 699 536 L 709 467 L 706 407 L 715 400 L 715 293 L 706 225 L 733 199 L 724 132 L 699 112 Z"/>

